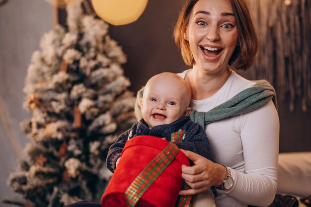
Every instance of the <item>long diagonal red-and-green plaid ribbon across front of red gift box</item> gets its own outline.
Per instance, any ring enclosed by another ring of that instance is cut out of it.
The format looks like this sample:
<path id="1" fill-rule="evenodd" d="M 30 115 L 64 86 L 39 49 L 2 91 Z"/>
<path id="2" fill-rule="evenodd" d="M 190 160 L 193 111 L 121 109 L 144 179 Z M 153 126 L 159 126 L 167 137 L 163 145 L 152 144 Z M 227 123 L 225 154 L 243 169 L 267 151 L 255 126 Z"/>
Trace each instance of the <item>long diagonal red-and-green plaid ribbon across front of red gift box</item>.
<path id="1" fill-rule="evenodd" d="M 174 160 L 179 148 L 169 144 L 145 167 L 124 193 L 127 207 L 135 207 L 137 202 L 153 184 L 163 170 Z"/>

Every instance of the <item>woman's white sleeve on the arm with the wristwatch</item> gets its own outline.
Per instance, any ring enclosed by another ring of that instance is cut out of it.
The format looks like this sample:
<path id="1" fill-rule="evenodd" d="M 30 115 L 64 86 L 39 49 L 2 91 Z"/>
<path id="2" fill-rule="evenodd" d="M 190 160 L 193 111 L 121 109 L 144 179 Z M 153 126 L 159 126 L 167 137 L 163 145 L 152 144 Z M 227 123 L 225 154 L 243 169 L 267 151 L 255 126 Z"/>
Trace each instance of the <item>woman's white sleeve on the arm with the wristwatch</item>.
<path id="1" fill-rule="evenodd" d="M 232 169 L 233 188 L 220 191 L 253 206 L 269 206 L 277 190 L 279 119 L 272 103 L 239 116 L 244 172 Z"/>

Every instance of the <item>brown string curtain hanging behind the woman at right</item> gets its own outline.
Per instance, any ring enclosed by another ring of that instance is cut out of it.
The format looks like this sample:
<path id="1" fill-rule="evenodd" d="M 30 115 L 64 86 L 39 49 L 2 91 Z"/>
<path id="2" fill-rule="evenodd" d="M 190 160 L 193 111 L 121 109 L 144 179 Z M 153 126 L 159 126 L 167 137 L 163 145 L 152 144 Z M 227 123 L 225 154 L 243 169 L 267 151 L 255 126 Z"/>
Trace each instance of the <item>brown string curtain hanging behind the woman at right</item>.
<path id="1" fill-rule="evenodd" d="M 309 0 L 248 0 L 257 24 L 261 49 L 252 76 L 267 79 L 290 111 L 311 106 L 311 2 Z M 296 106 L 298 107 L 298 106 Z"/>

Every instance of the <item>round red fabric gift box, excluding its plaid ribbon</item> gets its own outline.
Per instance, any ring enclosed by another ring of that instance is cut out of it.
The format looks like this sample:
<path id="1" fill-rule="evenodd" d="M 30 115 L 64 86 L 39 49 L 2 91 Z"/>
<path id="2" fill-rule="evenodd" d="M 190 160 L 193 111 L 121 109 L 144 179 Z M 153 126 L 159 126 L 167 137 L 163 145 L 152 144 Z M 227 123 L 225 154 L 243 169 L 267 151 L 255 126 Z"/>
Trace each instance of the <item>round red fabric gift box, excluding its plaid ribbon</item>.
<path id="1" fill-rule="evenodd" d="M 121 159 L 101 198 L 102 207 L 126 207 L 124 193 L 133 180 L 167 145 L 168 141 L 153 136 L 138 136 L 126 142 Z M 136 207 L 174 207 L 182 188 L 181 165 L 189 160 L 178 151 L 174 160 L 144 193 Z"/>

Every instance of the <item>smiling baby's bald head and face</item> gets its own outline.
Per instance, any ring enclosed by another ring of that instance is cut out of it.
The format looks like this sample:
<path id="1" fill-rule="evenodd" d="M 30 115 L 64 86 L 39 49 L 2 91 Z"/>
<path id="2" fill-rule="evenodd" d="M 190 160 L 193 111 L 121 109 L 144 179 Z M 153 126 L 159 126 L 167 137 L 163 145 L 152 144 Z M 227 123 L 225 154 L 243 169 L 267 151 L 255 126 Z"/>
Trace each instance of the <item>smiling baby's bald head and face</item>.
<path id="1" fill-rule="evenodd" d="M 176 77 L 160 76 L 148 81 L 141 110 L 149 128 L 170 124 L 190 113 L 190 95 L 184 83 Z"/>

